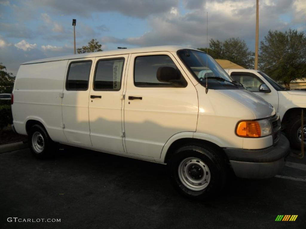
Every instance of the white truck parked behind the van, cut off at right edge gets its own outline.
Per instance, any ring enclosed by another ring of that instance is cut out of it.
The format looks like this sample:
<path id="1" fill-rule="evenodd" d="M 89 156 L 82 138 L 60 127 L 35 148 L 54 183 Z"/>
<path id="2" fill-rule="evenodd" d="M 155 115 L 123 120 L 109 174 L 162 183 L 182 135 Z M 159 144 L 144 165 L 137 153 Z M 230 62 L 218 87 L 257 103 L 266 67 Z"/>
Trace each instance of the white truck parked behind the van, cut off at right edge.
<path id="1" fill-rule="evenodd" d="M 289 90 L 262 71 L 225 69 L 233 80 L 272 104 L 282 121 L 282 129 L 292 147 L 301 148 L 301 110 L 304 109 L 304 147 L 306 147 L 306 91 Z"/>

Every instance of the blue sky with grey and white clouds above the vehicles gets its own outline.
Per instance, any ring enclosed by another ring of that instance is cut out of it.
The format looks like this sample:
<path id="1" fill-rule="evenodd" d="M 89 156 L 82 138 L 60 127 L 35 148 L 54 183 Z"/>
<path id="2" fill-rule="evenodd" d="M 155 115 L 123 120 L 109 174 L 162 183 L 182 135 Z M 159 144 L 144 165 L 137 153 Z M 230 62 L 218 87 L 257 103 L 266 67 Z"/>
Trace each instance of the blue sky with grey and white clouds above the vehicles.
<path id="1" fill-rule="evenodd" d="M 19 64 L 73 53 L 92 38 L 104 50 L 152 45 L 206 47 L 208 38 L 255 47 L 256 0 L 0 0 L 0 62 Z M 259 0 L 259 40 L 271 30 L 306 32 L 305 0 Z"/>

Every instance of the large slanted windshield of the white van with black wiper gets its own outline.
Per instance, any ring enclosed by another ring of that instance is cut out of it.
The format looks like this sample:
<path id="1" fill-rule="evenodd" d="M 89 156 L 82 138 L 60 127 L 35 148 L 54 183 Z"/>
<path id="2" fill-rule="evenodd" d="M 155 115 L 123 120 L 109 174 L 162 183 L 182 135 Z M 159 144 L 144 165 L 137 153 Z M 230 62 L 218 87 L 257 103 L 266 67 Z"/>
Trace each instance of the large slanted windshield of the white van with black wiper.
<path id="1" fill-rule="evenodd" d="M 232 83 L 233 79 L 206 53 L 181 49 L 177 51 L 177 55 L 198 82 L 206 85 L 207 78 L 209 89 L 244 89 L 242 86 Z"/>

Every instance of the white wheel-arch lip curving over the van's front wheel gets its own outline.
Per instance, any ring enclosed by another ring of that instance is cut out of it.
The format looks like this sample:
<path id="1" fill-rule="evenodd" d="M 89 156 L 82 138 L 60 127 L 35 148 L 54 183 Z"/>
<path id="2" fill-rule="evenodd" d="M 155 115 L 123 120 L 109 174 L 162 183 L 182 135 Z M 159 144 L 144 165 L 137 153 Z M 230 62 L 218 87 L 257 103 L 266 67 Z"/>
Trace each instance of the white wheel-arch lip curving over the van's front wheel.
<path id="1" fill-rule="evenodd" d="M 196 133 L 196 132 L 180 132 L 180 133 L 174 134 L 167 140 L 166 144 L 162 148 L 160 158 L 156 158 L 155 161 L 163 163 L 166 158 L 167 151 L 169 147 L 171 146 L 171 144 L 174 143 L 176 140 L 183 139 L 183 138 L 200 139 L 200 140 L 212 142 L 220 147 L 223 146 L 222 141 L 215 136 L 211 136 L 211 135 L 204 134 L 204 133 Z"/>

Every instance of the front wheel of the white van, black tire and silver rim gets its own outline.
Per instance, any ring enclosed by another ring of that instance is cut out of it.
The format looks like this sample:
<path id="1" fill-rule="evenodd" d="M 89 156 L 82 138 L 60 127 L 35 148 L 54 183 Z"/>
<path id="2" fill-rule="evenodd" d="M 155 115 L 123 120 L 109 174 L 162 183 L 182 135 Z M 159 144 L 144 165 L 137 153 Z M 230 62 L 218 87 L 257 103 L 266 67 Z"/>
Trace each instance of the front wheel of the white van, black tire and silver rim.
<path id="1" fill-rule="evenodd" d="M 226 166 L 213 148 L 189 145 L 179 148 L 170 159 L 174 186 L 181 194 L 206 199 L 221 190 Z"/>

